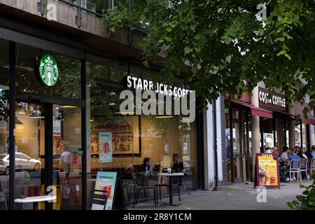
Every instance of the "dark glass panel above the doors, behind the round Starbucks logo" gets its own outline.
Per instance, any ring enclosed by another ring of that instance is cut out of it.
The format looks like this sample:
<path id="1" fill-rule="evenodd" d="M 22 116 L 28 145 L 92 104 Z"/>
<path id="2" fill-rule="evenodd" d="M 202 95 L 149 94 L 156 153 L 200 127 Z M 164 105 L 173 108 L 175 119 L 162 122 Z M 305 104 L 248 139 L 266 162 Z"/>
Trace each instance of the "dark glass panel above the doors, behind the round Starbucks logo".
<path id="1" fill-rule="evenodd" d="M 40 75 L 35 72 L 38 70 L 35 67 L 40 66 L 40 60 L 45 55 L 52 55 L 57 64 L 57 69 L 51 69 L 49 74 L 53 76 L 57 71 L 57 82 L 50 87 L 45 85 Z M 80 59 L 18 43 L 15 56 L 15 86 L 18 91 L 80 99 Z"/>

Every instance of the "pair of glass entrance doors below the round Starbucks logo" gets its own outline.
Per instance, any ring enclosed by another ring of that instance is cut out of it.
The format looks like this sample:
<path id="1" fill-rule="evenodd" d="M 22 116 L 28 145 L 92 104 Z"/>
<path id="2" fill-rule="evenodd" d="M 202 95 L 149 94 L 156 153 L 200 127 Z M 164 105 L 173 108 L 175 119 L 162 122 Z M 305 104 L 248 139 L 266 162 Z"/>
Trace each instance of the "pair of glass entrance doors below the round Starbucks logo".
<path id="1" fill-rule="evenodd" d="M 38 209 L 82 209 L 81 109 L 16 102 L 15 197 L 48 195 Z M 33 204 L 15 204 L 33 209 Z"/>

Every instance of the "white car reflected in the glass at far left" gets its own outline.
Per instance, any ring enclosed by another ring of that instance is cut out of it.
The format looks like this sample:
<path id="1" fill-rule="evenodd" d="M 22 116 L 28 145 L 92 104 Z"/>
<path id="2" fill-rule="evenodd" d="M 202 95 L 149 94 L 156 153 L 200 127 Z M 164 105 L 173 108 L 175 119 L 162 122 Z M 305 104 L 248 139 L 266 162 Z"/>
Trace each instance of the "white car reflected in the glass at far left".
<path id="1" fill-rule="evenodd" d="M 9 170 L 10 156 L 8 153 L 0 154 L 0 172 L 6 175 L 10 174 Z M 30 158 L 24 153 L 15 153 L 15 169 L 34 169 L 37 172 L 41 170 L 41 161 Z"/>

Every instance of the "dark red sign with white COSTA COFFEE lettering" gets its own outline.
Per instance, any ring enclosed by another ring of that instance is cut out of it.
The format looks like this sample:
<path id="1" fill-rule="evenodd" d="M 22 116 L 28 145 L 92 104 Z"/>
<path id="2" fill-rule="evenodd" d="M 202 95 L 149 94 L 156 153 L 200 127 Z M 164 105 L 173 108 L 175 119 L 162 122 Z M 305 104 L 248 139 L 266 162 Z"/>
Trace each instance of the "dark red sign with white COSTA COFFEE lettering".
<path id="1" fill-rule="evenodd" d="M 269 90 L 259 88 L 259 107 L 286 112 L 286 99 L 282 94 L 270 93 Z"/>

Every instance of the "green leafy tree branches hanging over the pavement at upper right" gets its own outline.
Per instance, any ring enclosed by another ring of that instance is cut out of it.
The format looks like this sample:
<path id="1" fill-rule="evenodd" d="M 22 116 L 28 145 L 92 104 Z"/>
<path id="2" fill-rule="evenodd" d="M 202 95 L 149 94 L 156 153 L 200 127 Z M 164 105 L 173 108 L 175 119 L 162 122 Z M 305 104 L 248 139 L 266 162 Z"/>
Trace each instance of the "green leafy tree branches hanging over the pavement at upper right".
<path id="1" fill-rule="evenodd" d="M 162 50 L 165 66 L 160 75 L 181 76 L 203 102 L 220 94 L 240 97 L 263 81 L 269 90 L 282 90 L 288 102 L 304 103 L 308 94 L 313 108 L 315 2 L 268 1 L 265 20 L 257 16 L 259 3 L 118 1 L 104 18 L 111 32 L 146 29 L 144 64 L 154 63 Z"/>

